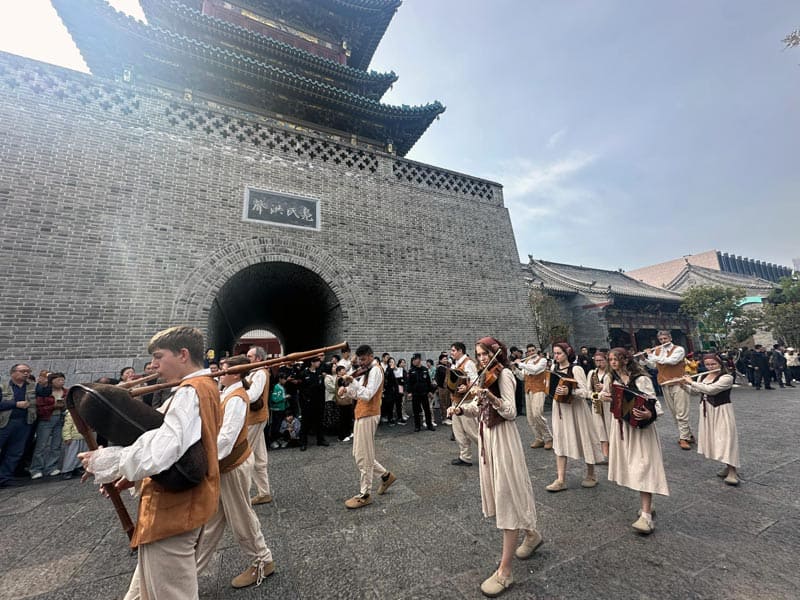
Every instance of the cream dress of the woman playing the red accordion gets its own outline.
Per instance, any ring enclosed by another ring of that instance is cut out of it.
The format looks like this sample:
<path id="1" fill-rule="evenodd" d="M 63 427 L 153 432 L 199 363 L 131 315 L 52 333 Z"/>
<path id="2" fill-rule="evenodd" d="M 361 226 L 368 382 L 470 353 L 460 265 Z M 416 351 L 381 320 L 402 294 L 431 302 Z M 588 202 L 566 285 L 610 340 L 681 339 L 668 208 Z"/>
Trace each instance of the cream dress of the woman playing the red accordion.
<path id="1" fill-rule="evenodd" d="M 646 375 L 636 379 L 636 388 L 649 398 L 656 397 L 653 382 Z M 614 419 L 608 437 L 609 481 L 639 492 L 669 496 L 661 440 L 655 423 L 639 428 Z"/>

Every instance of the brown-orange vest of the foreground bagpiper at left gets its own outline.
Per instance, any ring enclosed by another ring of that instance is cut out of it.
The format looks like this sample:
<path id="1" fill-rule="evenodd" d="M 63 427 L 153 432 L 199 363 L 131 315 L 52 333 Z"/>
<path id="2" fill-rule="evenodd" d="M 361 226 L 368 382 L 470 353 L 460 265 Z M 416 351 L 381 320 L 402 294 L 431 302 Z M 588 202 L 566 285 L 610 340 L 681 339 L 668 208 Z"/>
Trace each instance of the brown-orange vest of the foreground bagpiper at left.
<path id="1" fill-rule="evenodd" d="M 193 377 L 180 387 L 191 386 L 200 399 L 200 440 L 208 460 L 208 473 L 195 487 L 169 492 L 149 477 L 142 480 L 139 520 L 131 548 L 179 535 L 205 524 L 219 505 L 217 436 L 222 425 L 219 390 L 211 377 Z M 173 398 L 174 402 L 174 398 Z"/>

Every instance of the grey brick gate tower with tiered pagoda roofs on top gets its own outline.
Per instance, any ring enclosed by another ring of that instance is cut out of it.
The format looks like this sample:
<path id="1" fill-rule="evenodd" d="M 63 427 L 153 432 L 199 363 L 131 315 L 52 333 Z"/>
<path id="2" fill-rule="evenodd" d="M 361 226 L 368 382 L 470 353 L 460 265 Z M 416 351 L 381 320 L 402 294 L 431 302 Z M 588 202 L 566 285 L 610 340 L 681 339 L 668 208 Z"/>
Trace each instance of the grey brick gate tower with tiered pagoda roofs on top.
<path id="1" fill-rule="evenodd" d="M 218 352 L 529 338 L 502 188 L 403 158 L 444 107 L 368 70 L 399 0 L 52 3 L 92 74 L 0 54 L 2 359 L 110 371 L 178 323 Z"/>

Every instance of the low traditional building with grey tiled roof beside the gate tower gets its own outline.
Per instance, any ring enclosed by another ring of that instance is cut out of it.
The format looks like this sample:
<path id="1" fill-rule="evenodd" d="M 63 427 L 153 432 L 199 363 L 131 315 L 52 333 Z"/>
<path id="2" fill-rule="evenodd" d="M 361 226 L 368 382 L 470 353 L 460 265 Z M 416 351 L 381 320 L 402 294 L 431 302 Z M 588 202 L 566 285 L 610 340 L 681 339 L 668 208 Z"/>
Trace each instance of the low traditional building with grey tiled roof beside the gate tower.
<path id="1" fill-rule="evenodd" d="M 558 299 L 576 345 L 636 350 L 655 345 L 659 329 L 690 350 L 695 324 L 678 309 L 676 292 L 642 283 L 622 271 L 608 271 L 530 258 L 528 284 Z"/>

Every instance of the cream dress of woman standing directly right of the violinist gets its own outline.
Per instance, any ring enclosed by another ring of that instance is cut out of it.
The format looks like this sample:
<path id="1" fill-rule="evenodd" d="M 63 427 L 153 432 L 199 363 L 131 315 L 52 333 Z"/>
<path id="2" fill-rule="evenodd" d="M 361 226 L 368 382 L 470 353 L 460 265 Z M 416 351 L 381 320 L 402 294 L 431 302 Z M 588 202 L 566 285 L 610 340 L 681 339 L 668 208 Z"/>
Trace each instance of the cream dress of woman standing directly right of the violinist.
<path id="1" fill-rule="evenodd" d="M 572 402 L 553 402 L 553 452 L 594 465 L 603 461 L 603 451 L 586 404 L 591 398 L 589 384 L 579 366 L 572 369 L 572 377 L 578 382 L 572 391 Z"/>

